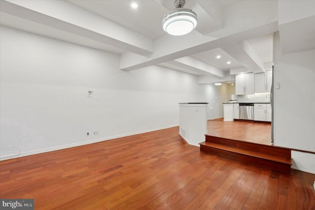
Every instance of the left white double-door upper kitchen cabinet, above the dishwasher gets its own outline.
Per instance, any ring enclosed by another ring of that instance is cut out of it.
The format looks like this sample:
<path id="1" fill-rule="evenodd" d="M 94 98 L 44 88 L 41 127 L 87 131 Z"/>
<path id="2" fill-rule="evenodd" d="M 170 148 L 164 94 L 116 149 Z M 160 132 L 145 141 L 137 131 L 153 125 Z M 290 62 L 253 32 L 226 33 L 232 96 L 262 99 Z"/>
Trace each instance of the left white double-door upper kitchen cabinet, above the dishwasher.
<path id="1" fill-rule="evenodd" d="M 235 75 L 235 94 L 254 94 L 255 79 L 254 73 L 240 73 Z"/>

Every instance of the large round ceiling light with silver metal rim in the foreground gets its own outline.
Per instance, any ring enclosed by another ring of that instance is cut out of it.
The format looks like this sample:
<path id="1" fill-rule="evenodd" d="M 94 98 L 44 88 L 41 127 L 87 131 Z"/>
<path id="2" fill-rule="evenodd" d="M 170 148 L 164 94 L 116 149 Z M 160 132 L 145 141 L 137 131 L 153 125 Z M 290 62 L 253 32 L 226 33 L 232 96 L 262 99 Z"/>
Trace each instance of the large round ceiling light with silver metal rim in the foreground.
<path id="1" fill-rule="evenodd" d="M 191 9 L 183 8 L 185 0 L 175 0 L 173 9 L 163 18 L 163 30 L 170 35 L 186 35 L 197 25 L 197 15 Z"/>

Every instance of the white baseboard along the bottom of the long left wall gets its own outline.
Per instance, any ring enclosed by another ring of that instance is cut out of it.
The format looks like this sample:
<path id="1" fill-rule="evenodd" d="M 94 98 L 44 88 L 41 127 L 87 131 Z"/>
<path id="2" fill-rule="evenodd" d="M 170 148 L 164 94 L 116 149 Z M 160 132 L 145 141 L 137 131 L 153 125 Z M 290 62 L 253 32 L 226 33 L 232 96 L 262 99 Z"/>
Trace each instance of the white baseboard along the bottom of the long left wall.
<path id="1" fill-rule="evenodd" d="M 91 144 L 91 143 L 97 143 L 97 142 L 101 142 L 101 141 L 105 141 L 105 140 L 113 140 L 113 139 L 117 139 L 117 138 L 128 137 L 128 136 L 132 136 L 132 135 L 143 134 L 143 133 L 163 130 L 163 129 L 167 129 L 167 128 L 173 128 L 176 126 L 179 126 L 179 124 L 166 126 L 166 127 L 160 127 L 160 128 L 156 128 L 156 129 L 145 130 L 145 131 L 133 132 L 133 133 L 129 133 L 129 134 L 116 135 L 116 136 L 111 136 L 111 137 L 106 137 L 106 138 L 100 138 L 100 139 L 94 139 L 94 140 L 88 140 L 88 141 L 80 141 L 77 143 L 70 143 L 70 144 L 65 144 L 65 145 L 61 145 L 61 146 L 49 147 L 49 148 L 44 148 L 44 149 L 39 149 L 39 150 L 33 150 L 33 151 L 29 151 L 29 152 L 21 152 L 19 155 L 16 155 L 16 156 L 8 156 L 8 157 L 0 158 L 0 161 L 24 157 L 24 156 L 29 156 L 29 155 L 36 155 L 36 154 L 45 153 L 45 152 L 52 152 L 52 151 L 67 149 L 67 148 L 76 147 L 76 146 L 83 146 L 83 145 L 87 145 L 87 144 Z"/>

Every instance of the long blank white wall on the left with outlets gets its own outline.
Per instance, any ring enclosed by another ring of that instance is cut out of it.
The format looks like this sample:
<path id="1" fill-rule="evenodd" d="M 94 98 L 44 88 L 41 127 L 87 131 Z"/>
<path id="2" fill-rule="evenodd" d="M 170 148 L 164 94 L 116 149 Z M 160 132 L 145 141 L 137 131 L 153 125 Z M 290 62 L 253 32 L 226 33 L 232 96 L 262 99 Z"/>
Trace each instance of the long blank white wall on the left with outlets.
<path id="1" fill-rule="evenodd" d="M 20 156 L 177 126 L 178 103 L 205 102 L 197 76 L 123 71 L 116 54 L 3 26 L 0 33 L 0 147 Z"/>

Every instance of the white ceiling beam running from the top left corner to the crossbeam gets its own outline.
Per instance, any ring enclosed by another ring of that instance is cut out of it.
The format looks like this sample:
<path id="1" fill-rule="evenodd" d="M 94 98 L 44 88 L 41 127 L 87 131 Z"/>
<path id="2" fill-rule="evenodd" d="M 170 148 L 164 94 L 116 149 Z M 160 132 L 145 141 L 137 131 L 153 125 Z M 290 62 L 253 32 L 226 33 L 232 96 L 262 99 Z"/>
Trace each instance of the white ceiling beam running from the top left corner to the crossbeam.
<path id="1" fill-rule="evenodd" d="M 1 0 L 1 12 L 81 35 L 140 55 L 153 53 L 144 35 L 61 0 Z M 93 24 L 91 24 L 93 23 Z"/>

